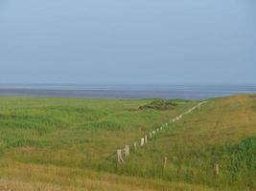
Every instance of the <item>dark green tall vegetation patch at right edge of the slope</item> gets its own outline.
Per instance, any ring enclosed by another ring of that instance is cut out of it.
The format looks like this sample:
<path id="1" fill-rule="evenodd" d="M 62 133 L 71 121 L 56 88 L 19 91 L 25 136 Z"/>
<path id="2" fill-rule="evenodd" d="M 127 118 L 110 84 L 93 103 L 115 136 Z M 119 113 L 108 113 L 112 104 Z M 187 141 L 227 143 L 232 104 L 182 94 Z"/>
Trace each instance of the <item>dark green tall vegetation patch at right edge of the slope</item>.
<path id="1" fill-rule="evenodd" d="M 256 137 L 244 138 L 239 143 L 212 147 L 206 151 L 209 168 L 216 163 L 221 166 L 221 183 L 230 185 L 241 181 L 256 189 Z"/>

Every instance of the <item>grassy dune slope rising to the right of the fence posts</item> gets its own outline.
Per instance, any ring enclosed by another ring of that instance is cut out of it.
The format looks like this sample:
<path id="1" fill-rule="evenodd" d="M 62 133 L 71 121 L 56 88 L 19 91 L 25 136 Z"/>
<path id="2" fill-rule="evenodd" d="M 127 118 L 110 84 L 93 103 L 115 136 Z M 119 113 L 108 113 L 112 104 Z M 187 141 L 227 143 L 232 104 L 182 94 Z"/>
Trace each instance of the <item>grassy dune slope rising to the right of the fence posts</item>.
<path id="1" fill-rule="evenodd" d="M 164 157 L 169 163 L 163 171 Z M 217 178 L 216 163 L 221 165 Z M 256 99 L 232 96 L 209 100 L 139 150 L 120 171 L 219 189 L 256 190 Z"/>

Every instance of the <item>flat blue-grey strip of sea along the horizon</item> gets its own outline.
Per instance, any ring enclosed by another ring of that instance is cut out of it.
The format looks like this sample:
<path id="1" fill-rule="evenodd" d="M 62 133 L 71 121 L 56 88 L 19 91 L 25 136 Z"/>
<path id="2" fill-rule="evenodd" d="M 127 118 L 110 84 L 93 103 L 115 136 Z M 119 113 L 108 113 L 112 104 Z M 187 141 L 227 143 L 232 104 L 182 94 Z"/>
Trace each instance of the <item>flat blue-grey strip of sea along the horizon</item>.
<path id="1" fill-rule="evenodd" d="M 0 85 L 0 96 L 205 99 L 247 93 L 256 94 L 256 85 Z"/>

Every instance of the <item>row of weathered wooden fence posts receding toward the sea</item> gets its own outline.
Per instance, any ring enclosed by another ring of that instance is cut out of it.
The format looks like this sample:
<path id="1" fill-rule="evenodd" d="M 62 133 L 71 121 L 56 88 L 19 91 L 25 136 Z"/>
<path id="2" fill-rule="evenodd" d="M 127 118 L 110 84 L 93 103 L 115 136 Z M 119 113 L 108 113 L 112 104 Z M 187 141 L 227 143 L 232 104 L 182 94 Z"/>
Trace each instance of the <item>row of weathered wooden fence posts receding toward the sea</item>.
<path id="1" fill-rule="evenodd" d="M 182 117 L 184 117 L 184 115 L 190 114 L 192 113 L 194 110 L 196 110 L 197 108 L 200 109 L 200 106 L 202 104 L 206 103 L 206 101 L 202 101 L 199 102 L 196 106 L 194 106 L 193 108 L 189 109 L 188 111 L 184 112 L 183 114 L 172 118 L 170 121 L 171 123 L 175 123 L 176 121 L 180 120 Z M 168 122 L 166 122 L 164 125 L 161 125 L 160 128 L 157 128 L 155 130 L 152 130 L 149 135 L 146 134 L 145 136 L 143 136 L 142 138 L 140 138 L 140 146 L 143 147 L 145 144 L 148 143 L 148 141 L 151 141 L 152 138 L 155 138 L 156 134 L 162 130 L 164 130 L 166 127 L 168 127 Z M 149 137 L 148 137 L 149 136 Z M 149 138 L 149 139 L 148 139 Z M 137 150 L 137 142 L 135 141 L 133 143 L 133 148 L 134 151 Z M 124 149 L 118 149 L 117 150 L 117 162 L 118 163 L 124 163 L 125 162 L 125 158 L 127 158 L 129 156 L 129 145 L 126 145 Z M 166 165 L 167 159 L 165 159 L 165 165 Z M 165 166 L 164 166 L 165 168 Z"/>

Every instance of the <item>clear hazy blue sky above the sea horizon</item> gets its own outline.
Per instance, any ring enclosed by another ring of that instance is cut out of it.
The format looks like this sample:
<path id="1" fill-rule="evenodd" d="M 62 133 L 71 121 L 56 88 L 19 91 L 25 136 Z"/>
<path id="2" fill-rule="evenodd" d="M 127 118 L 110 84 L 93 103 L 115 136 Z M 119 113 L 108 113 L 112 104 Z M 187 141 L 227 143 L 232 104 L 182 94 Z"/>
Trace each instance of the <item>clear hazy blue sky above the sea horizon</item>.
<path id="1" fill-rule="evenodd" d="M 0 0 L 0 83 L 256 84 L 255 0 Z"/>

